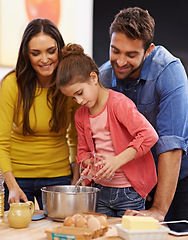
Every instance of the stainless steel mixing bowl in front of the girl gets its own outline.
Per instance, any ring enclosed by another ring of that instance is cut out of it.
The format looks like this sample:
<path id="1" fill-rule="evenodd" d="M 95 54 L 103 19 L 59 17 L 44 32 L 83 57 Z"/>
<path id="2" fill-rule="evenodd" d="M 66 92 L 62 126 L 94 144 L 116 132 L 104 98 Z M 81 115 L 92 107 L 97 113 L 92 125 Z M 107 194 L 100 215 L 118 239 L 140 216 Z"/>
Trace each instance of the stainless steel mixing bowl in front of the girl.
<path id="1" fill-rule="evenodd" d="M 83 212 L 95 212 L 98 188 L 64 185 L 42 189 L 45 214 L 54 221 L 63 221 L 67 216 Z"/>

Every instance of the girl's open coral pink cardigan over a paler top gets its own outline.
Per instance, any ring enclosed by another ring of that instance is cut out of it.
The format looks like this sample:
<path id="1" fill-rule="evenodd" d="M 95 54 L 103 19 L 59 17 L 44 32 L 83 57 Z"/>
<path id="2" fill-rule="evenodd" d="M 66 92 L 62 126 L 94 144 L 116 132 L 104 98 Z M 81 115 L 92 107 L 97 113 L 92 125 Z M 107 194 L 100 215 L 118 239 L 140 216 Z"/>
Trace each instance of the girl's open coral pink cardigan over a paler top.
<path id="1" fill-rule="evenodd" d="M 132 187 L 145 198 L 157 183 L 156 168 L 150 148 L 158 135 L 135 104 L 122 93 L 109 90 L 106 128 L 111 132 L 116 155 L 128 147 L 137 150 L 135 159 L 121 168 Z M 75 114 L 78 131 L 78 156 L 80 163 L 87 152 L 95 151 L 89 123 L 89 109 L 80 107 Z"/>

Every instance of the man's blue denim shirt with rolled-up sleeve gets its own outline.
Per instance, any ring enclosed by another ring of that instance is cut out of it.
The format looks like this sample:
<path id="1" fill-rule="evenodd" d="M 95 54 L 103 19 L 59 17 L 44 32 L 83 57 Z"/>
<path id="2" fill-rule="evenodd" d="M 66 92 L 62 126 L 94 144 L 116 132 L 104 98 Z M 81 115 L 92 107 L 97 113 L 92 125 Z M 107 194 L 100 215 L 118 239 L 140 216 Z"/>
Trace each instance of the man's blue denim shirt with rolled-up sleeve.
<path id="1" fill-rule="evenodd" d="M 159 140 L 152 148 L 156 165 L 160 153 L 182 149 L 179 179 L 188 176 L 188 83 L 180 60 L 156 46 L 144 61 L 139 79 L 128 87 L 116 79 L 110 61 L 99 70 L 99 81 L 132 99 L 156 129 Z"/>

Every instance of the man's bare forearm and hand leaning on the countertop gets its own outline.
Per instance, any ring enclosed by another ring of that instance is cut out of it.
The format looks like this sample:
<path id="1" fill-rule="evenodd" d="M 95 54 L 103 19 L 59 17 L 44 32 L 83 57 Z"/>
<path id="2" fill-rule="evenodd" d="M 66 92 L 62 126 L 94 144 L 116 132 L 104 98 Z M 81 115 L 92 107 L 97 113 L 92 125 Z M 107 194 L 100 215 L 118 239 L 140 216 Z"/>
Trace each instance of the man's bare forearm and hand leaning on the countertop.
<path id="1" fill-rule="evenodd" d="M 158 157 L 158 183 L 153 205 L 149 210 L 127 210 L 125 215 L 151 216 L 164 221 L 173 200 L 180 171 L 182 150 L 176 149 L 161 153 Z"/>

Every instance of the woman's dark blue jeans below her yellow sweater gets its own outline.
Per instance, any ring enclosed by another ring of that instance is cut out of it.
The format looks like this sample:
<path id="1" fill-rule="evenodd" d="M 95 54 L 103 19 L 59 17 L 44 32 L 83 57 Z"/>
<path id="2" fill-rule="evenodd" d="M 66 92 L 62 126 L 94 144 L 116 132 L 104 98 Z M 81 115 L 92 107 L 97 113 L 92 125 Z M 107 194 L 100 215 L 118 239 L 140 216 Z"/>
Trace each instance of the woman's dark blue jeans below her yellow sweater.
<path id="1" fill-rule="evenodd" d="M 28 200 L 34 202 L 34 197 L 36 197 L 39 208 L 43 209 L 41 188 L 55 185 L 70 185 L 71 175 L 56 178 L 16 178 L 16 181 Z M 5 184 L 5 210 L 9 209 L 8 194 L 8 188 Z"/>

